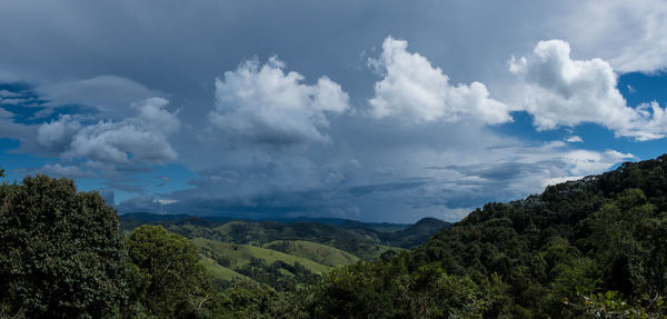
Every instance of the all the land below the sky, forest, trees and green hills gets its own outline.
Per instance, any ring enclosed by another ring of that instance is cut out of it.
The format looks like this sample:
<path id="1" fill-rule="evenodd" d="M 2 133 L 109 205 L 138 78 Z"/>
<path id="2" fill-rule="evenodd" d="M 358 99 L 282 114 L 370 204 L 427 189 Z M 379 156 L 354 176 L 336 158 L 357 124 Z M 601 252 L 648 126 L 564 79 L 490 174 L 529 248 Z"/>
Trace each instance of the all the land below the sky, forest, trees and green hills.
<path id="1" fill-rule="evenodd" d="M 121 229 L 97 192 L 46 176 L 3 182 L 0 203 L 0 318 L 667 315 L 667 156 L 487 203 L 409 250 L 407 228 Z"/>

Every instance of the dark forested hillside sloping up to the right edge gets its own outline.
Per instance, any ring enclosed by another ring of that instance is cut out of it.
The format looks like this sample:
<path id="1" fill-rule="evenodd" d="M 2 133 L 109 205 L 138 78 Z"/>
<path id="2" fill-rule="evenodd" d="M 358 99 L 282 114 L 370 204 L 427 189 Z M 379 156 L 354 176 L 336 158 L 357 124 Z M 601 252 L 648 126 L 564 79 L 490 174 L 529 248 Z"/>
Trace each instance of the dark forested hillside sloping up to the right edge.
<path id="1" fill-rule="evenodd" d="M 478 282 L 501 279 L 508 306 L 497 311 L 515 317 L 563 317 L 564 300 L 583 301 L 578 291 L 666 296 L 667 156 L 488 203 L 410 258 Z"/>

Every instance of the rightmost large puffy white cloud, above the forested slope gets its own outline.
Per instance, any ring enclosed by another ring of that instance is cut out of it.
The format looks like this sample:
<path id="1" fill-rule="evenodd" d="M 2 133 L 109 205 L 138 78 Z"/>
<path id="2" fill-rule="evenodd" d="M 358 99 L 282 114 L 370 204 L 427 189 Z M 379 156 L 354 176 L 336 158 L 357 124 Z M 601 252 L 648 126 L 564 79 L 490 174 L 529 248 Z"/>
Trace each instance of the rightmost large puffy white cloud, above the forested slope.
<path id="1" fill-rule="evenodd" d="M 611 66 L 597 58 L 571 59 L 568 42 L 540 41 L 530 58 L 512 57 L 509 70 L 521 81 L 518 103 L 534 116 L 538 130 L 593 122 L 636 140 L 667 134 L 665 109 L 655 102 L 628 107 Z"/>

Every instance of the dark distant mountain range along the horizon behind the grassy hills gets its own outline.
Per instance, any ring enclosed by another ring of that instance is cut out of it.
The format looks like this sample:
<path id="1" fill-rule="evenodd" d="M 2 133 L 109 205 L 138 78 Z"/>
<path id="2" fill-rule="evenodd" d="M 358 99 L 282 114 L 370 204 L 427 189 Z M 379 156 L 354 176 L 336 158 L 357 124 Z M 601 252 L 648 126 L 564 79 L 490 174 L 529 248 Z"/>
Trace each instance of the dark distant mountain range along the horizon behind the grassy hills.
<path id="1" fill-rule="evenodd" d="M 262 246 L 276 240 L 305 240 L 334 246 L 362 259 L 377 258 L 390 247 L 410 248 L 450 223 L 425 218 L 415 225 L 368 223 L 344 219 L 223 220 L 188 215 L 121 215 L 121 228 L 131 231 L 142 223 L 162 225 L 188 238 Z M 307 221 L 303 221 L 307 220 Z M 310 220 L 327 221 L 328 223 Z"/>

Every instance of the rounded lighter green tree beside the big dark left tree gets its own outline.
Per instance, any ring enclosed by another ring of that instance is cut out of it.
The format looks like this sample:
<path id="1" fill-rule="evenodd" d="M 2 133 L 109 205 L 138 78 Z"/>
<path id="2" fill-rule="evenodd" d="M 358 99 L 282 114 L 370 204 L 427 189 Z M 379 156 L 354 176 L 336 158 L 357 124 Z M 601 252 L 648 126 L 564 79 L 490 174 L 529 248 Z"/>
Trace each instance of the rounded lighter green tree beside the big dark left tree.
<path id="1" fill-rule="evenodd" d="M 210 297 L 210 280 L 199 253 L 185 237 L 161 226 L 141 226 L 127 239 L 130 261 L 146 289 L 138 300 L 151 316 L 185 318 L 202 311 Z"/>

